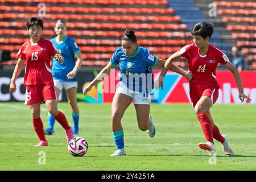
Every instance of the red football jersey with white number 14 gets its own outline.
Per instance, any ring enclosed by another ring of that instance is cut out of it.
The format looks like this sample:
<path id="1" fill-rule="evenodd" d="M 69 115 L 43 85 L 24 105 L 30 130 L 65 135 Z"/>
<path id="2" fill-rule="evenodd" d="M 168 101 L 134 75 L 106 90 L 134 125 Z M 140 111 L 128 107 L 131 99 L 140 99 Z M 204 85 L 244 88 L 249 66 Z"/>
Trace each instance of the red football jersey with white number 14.
<path id="1" fill-rule="evenodd" d="M 209 45 L 207 54 L 200 55 L 199 48 L 195 44 L 189 44 L 179 51 L 180 56 L 187 58 L 189 71 L 192 72 L 193 78 L 191 84 L 217 84 L 216 68 L 218 63 L 227 64 L 228 57 L 212 44 Z"/>

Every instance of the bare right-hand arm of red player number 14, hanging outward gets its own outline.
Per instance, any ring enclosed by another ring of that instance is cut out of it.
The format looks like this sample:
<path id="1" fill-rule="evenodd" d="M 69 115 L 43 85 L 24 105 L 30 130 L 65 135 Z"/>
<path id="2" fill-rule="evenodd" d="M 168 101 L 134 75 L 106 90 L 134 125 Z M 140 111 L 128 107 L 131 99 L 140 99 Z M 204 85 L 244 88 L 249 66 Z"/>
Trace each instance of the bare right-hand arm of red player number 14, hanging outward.
<path id="1" fill-rule="evenodd" d="M 227 63 L 225 64 L 225 66 L 229 69 L 229 71 L 231 71 L 234 75 L 234 78 L 237 82 L 237 86 L 238 86 L 238 90 L 239 90 L 239 98 L 241 100 L 241 102 L 243 102 L 246 98 L 246 102 L 250 102 L 251 99 L 246 96 L 246 94 L 243 93 L 243 86 L 242 86 L 242 81 L 241 81 L 241 77 L 239 72 L 237 71 L 237 68 L 234 67 L 234 65 L 232 63 Z"/>

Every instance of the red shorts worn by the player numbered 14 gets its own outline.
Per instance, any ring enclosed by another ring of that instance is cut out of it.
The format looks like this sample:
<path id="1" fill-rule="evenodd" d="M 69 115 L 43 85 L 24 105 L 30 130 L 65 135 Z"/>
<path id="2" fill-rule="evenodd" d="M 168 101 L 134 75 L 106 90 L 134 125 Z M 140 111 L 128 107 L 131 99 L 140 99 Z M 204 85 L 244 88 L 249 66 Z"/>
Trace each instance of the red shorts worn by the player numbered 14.
<path id="1" fill-rule="evenodd" d="M 196 106 L 197 102 L 200 100 L 202 96 L 207 96 L 212 100 L 212 104 L 214 104 L 218 99 L 218 89 L 220 87 L 218 85 L 207 86 L 204 84 L 200 85 L 189 85 L 189 95 L 192 102 L 193 107 Z"/>

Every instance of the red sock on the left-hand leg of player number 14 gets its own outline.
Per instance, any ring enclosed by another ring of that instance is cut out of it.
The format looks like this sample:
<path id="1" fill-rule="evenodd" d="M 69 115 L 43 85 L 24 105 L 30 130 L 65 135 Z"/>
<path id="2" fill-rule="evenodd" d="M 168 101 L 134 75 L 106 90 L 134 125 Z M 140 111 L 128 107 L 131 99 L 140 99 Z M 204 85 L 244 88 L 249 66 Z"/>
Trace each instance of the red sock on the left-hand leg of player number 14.
<path id="1" fill-rule="evenodd" d="M 212 128 L 210 126 L 210 119 L 206 113 L 197 114 L 197 119 L 200 122 L 201 129 L 203 130 L 204 137 L 207 141 L 213 143 Z"/>

